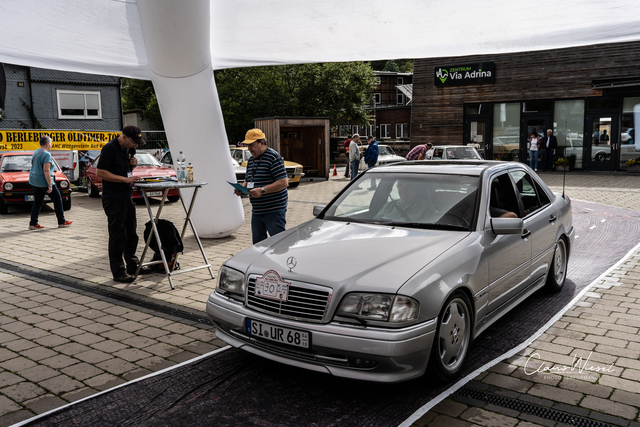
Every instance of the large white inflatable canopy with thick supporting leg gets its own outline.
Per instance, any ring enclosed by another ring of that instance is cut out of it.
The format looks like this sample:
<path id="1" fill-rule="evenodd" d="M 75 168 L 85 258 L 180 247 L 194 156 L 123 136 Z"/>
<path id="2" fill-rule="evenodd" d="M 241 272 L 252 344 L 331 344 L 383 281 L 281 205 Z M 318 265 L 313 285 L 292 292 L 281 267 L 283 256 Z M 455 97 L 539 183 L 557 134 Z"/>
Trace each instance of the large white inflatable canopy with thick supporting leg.
<path id="1" fill-rule="evenodd" d="M 193 216 L 204 237 L 231 234 L 243 216 L 225 182 L 233 170 L 214 69 L 637 40 L 637 0 L 0 2 L 0 62 L 153 81 L 172 150 L 210 182 Z"/>

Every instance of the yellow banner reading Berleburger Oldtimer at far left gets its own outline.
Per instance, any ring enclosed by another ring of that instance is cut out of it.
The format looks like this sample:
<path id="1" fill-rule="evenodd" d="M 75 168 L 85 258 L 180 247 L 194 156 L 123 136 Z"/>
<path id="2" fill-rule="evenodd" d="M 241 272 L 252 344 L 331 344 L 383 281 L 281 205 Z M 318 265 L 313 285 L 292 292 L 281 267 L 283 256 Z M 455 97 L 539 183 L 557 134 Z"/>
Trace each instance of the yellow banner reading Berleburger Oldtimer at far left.
<path id="1" fill-rule="evenodd" d="M 0 129 L 0 151 L 33 151 L 40 148 L 40 137 L 49 135 L 52 150 L 101 150 L 120 131 L 16 130 Z"/>

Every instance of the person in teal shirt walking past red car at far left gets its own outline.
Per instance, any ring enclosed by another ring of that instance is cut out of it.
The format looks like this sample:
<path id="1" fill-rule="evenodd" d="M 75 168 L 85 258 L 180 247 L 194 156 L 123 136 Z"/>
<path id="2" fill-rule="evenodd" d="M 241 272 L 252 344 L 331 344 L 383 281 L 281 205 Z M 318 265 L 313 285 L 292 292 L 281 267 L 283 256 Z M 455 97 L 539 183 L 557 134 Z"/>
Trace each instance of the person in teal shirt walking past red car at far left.
<path id="1" fill-rule="evenodd" d="M 51 138 L 48 135 L 40 137 L 40 148 L 31 156 L 31 170 L 29 171 L 29 185 L 33 188 L 33 206 L 31 206 L 31 221 L 29 230 L 40 230 L 43 225 L 38 224 L 38 217 L 44 203 L 44 196 L 49 195 L 58 217 L 58 228 L 71 225 L 73 221 L 64 219 L 64 209 L 62 207 L 62 197 L 56 187 L 56 180 L 53 174 L 53 157 L 51 157 Z M 71 197 L 71 196 L 69 196 Z"/>

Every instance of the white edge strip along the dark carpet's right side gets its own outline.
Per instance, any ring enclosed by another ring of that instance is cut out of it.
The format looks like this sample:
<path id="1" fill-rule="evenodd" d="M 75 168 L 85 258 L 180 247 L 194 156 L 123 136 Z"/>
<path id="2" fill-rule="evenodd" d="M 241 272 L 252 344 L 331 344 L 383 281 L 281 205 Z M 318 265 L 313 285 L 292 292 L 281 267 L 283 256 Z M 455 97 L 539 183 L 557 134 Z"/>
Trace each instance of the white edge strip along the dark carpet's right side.
<path id="1" fill-rule="evenodd" d="M 431 399 L 427 404 L 425 404 L 423 407 L 421 407 L 416 412 L 414 412 L 409 418 L 404 420 L 402 422 L 402 424 L 400 424 L 399 427 L 409 427 L 409 426 L 411 426 L 411 424 L 413 424 L 420 417 L 422 417 L 424 414 L 429 412 L 429 410 L 431 408 L 436 406 L 438 403 L 442 402 L 444 399 L 449 397 L 451 394 L 453 394 L 456 390 L 458 390 L 459 388 L 464 386 L 466 383 L 468 383 L 469 381 L 471 381 L 472 379 L 474 379 L 475 377 L 477 377 L 478 375 L 480 375 L 481 373 L 483 373 L 487 369 L 491 368 L 492 366 L 497 365 L 498 363 L 502 362 L 505 359 L 508 359 L 509 357 L 513 356 L 514 354 L 518 353 L 519 351 L 522 351 L 522 350 L 526 349 L 532 342 L 534 342 L 536 339 L 538 339 L 538 337 L 540 335 L 542 335 L 547 329 L 549 329 L 551 326 L 553 326 L 553 324 L 556 323 L 556 321 L 558 321 L 558 319 L 560 319 L 564 315 L 564 313 L 567 312 L 567 310 L 569 310 L 578 301 L 580 301 L 580 299 L 583 297 L 583 295 L 585 293 L 589 292 L 589 290 L 591 288 L 593 288 L 596 284 L 598 284 L 598 282 L 600 282 L 602 279 L 604 279 L 610 272 L 612 272 L 613 270 L 618 268 L 618 266 L 620 264 L 624 263 L 627 260 L 627 258 L 631 257 L 639 249 L 640 249 L 640 244 L 638 244 L 636 247 L 634 247 L 629 252 L 627 252 L 627 254 L 624 257 L 622 257 L 617 263 L 615 263 L 613 266 L 611 266 L 607 271 L 602 273 L 593 282 L 591 282 L 582 291 L 580 291 L 580 293 L 578 295 L 576 295 L 573 298 L 573 300 L 571 300 L 571 302 L 569 302 L 569 304 L 564 306 L 555 316 L 553 316 L 544 326 L 542 326 L 540 329 L 538 329 L 525 342 L 523 342 L 519 346 L 509 350 L 505 354 L 493 359 L 491 362 L 486 363 L 484 366 L 479 367 L 478 369 L 476 369 L 475 371 L 473 371 L 472 373 L 470 373 L 466 377 L 464 377 L 461 380 L 459 380 L 458 382 L 456 382 L 454 385 L 452 385 L 447 390 L 445 390 L 442 393 L 440 393 L 435 398 Z"/>

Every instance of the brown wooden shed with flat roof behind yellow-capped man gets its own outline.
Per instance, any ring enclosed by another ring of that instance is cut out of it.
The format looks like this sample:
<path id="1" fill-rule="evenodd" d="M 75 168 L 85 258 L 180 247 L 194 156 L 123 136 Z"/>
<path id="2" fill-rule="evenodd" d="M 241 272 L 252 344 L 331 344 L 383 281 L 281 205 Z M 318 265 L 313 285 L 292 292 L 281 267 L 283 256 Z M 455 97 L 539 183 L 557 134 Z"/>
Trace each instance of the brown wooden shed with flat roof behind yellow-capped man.
<path id="1" fill-rule="evenodd" d="M 266 117 L 254 119 L 267 145 L 285 159 L 300 163 L 305 177 L 329 178 L 328 117 Z"/>

